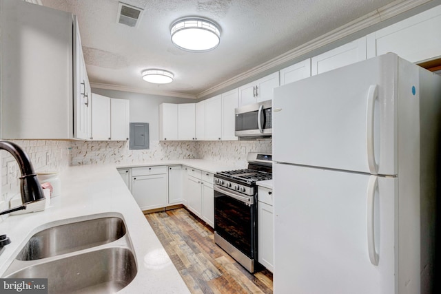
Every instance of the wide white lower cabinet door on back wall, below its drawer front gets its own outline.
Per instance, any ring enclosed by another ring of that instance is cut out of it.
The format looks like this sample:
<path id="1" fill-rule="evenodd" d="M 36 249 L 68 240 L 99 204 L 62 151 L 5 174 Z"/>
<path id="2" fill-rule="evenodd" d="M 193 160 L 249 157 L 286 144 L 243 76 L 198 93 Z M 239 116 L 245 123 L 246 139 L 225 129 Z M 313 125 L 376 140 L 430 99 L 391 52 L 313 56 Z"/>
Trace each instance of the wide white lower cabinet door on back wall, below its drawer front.
<path id="1" fill-rule="evenodd" d="M 132 195 L 141 210 L 167 206 L 167 174 L 132 177 Z"/>

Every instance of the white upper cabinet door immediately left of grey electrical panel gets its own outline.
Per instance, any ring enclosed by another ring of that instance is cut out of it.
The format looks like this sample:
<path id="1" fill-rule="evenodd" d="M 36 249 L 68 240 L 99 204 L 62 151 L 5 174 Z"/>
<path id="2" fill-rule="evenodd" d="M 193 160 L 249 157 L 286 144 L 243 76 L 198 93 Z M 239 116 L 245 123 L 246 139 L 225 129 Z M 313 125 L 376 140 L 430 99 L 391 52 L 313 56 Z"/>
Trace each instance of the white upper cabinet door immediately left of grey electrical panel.
<path id="1" fill-rule="evenodd" d="M 110 136 L 112 140 L 129 140 L 130 101 L 126 99 L 110 100 Z"/>

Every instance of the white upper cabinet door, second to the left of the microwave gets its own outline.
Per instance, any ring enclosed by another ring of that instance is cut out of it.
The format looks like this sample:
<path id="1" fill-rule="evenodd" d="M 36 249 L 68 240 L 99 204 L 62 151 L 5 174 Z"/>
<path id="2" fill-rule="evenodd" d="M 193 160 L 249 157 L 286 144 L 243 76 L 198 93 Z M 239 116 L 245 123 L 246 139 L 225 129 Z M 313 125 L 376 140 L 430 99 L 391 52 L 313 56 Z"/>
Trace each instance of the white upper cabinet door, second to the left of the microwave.
<path id="1" fill-rule="evenodd" d="M 205 100 L 205 140 L 220 140 L 222 136 L 222 98 Z"/>

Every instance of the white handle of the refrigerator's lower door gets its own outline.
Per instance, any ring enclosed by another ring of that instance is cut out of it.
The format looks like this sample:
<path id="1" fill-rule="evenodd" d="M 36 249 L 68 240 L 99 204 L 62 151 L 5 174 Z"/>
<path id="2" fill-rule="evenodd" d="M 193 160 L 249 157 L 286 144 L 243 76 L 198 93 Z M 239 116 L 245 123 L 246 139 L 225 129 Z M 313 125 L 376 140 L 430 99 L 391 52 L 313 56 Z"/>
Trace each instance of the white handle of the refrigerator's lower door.
<path id="1" fill-rule="evenodd" d="M 367 210 L 366 210 L 366 223 L 367 223 L 367 251 L 369 253 L 369 260 L 371 264 L 378 266 L 378 253 L 375 251 L 375 238 L 374 238 L 374 200 L 375 191 L 378 187 L 378 176 L 370 176 L 369 183 L 367 185 Z"/>

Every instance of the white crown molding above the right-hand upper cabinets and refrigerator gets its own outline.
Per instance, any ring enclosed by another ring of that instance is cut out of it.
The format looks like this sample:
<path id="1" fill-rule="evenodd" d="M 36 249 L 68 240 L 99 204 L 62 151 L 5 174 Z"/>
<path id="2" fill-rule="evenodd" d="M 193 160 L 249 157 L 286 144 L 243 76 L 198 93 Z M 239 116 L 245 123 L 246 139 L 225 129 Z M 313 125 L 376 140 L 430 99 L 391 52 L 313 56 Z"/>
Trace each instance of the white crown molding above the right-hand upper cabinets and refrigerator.
<path id="1" fill-rule="evenodd" d="M 251 70 L 247 70 L 242 74 L 238 74 L 232 78 L 229 78 L 227 81 L 220 83 L 214 87 L 211 87 L 198 95 L 197 98 L 203 98 L 210 94 L 214 94 L 215 92 L 219 92 L 226 87 L 232 86 L 240 81 L 244 81 L 247 78 L 252 78 L 258 74 L 261 74 L 267 70 L 271 70 L 279 65 L 283 65 L 283 63 L 287 63 L 300 57 L 308 52 L 321 48 L 325 45 L 329 45 L 335 41 L 338 41 L 344 37 L 347 37 L 355 32 L 363 30 L 365 28 L 369 28 L 371 25 L 376 25 L 381 21 L 385 21 L 387 19 L 391 19 L 392 17 L 396 17 L 403 12 L 407 12 L 417 6 L 420 6 L 424 3 L 428 3 L 433 0 L 396 0 L 389 3 L 387 6 L 383 6 L 378 10 L 375 10 L 369 14 L 364 15 L 350 23 L 342 25 L 340 28 L 336 28 L 327 34 L 323 34 L 316 39 L 313 39 L 305 44 L 294 48 L 293 50 L 289 50 L 284 54 L 281 54 L 274 59 L 270 59 L 269 61 L 262 63 L 256 67 L 253 67 Z"/>

